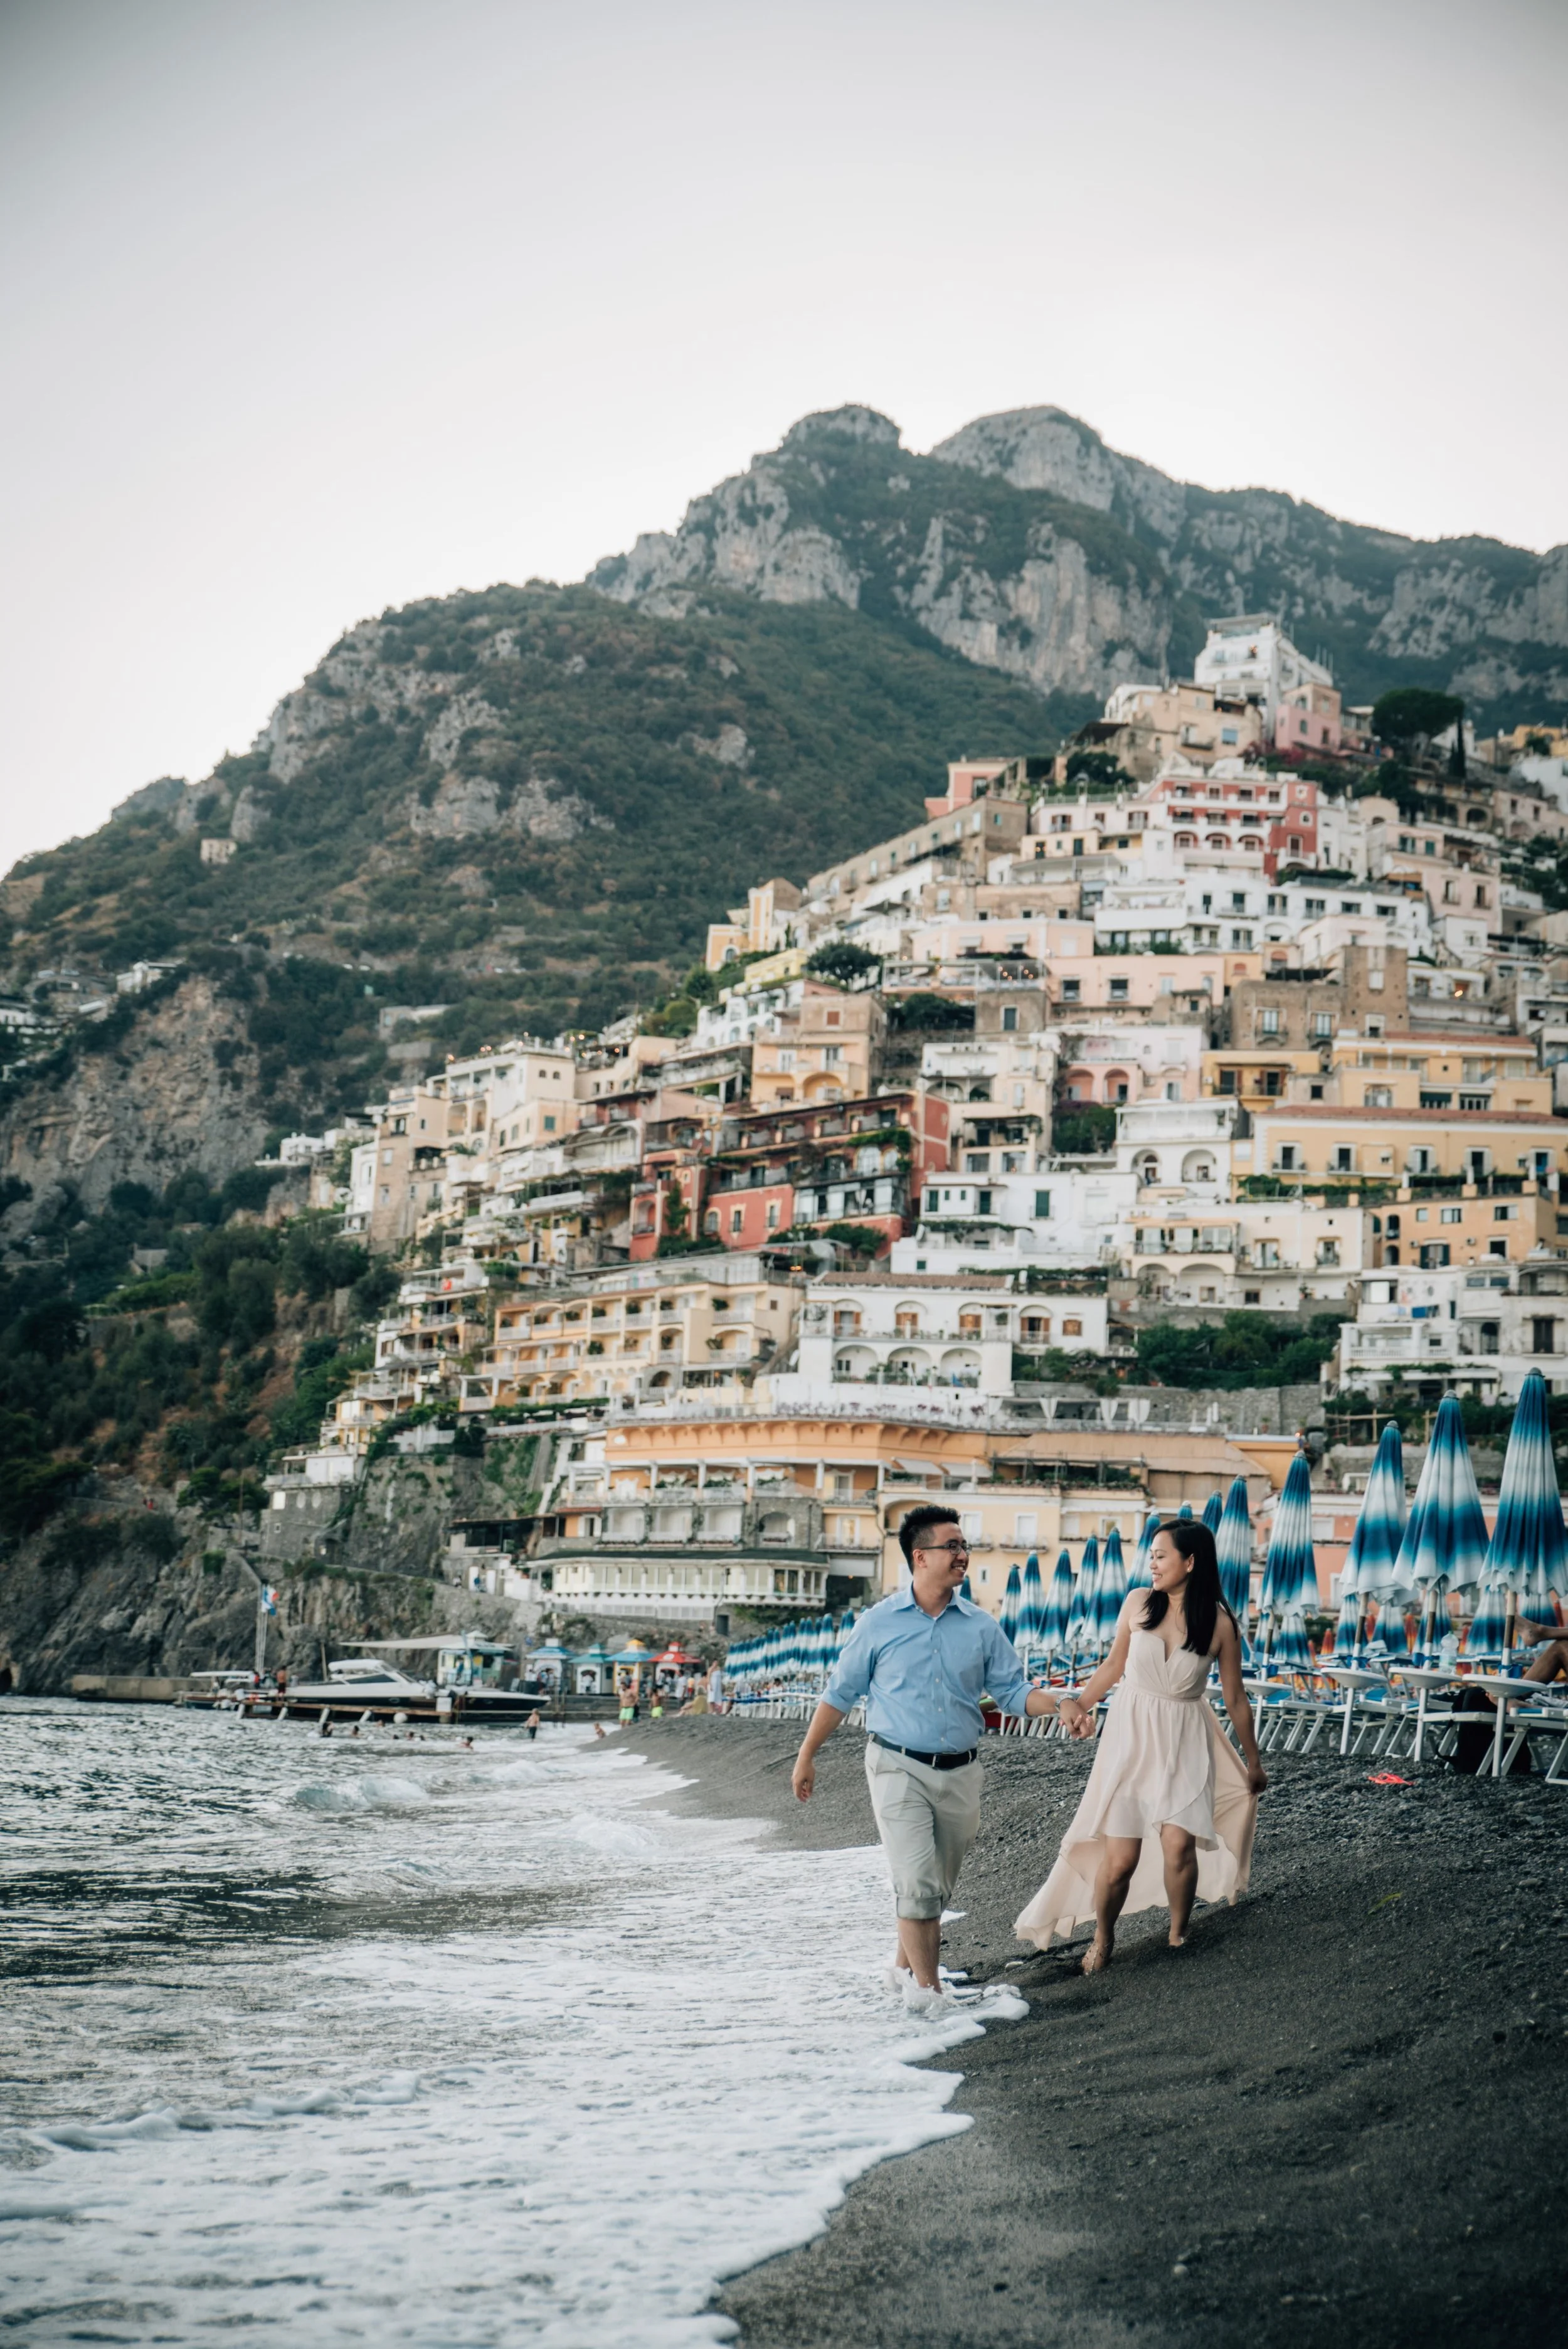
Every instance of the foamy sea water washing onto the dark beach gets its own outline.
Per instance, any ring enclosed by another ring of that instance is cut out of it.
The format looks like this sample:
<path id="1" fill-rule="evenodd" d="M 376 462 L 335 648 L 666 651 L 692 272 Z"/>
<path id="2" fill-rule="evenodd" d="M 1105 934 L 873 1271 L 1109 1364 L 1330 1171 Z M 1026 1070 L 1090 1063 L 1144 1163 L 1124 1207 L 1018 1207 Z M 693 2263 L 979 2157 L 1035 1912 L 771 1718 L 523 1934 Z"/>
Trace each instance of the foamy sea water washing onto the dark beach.
<path id="1" fill-rule="evenodd" d="M 723 2276 L 967 2126 L 915 2065 L 981 2025 L 883 1987 L 876 1849 L 678 1783 L 582 1729 L 0 1703 L 7 2337 L 728 2337 Z"/>

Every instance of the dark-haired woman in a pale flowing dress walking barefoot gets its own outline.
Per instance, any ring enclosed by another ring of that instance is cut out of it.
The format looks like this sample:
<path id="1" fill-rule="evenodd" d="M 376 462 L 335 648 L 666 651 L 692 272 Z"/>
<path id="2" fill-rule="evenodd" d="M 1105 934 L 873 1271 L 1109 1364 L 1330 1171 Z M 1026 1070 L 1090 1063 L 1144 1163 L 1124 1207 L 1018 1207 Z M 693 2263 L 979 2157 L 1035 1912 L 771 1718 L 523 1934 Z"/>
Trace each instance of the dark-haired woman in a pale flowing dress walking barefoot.
<path id="1" fill-rule="evenodd" d="M 1056 1865 L 1014 1929 L 1047 1950 L 1054 1933 L 1091 1917 L 1084 1973 L 1110 1964 L 1122 1910 L 1167 1900 L 1171 1950 L 1181 1950 L 1199 1893 L 1235 1900 L 1246 1891 L 1258 1795 L 1268 1785 L 1242 1689 L 1242 1640 L 1221 1597 L 1209 1527 L 1185 1517 L 1164 1525 L 1150 1571 L 1155 1588 L 1127 1595 L 1099 1672 L 1077 1696 L 1061 1698 L 1068 1734 L 1094 1736 L 1099 1698 L 1127 1675 Z M 1246 1759 L 1204 1701 L 1216 1661 Z"/>

